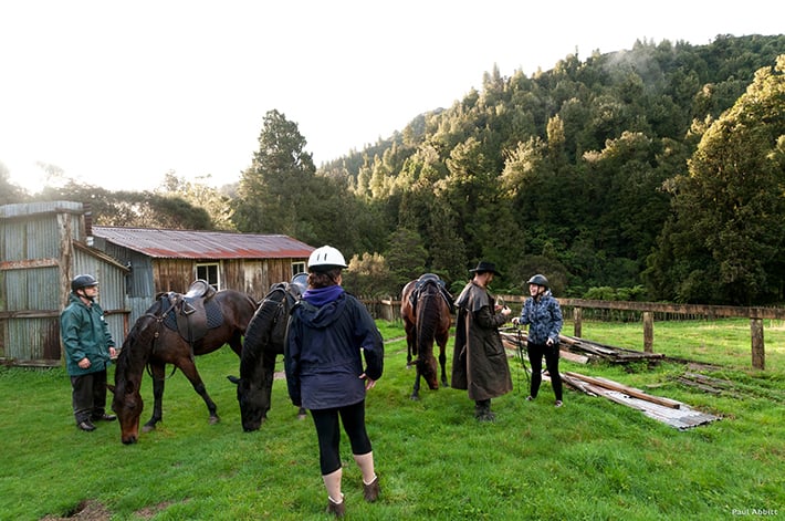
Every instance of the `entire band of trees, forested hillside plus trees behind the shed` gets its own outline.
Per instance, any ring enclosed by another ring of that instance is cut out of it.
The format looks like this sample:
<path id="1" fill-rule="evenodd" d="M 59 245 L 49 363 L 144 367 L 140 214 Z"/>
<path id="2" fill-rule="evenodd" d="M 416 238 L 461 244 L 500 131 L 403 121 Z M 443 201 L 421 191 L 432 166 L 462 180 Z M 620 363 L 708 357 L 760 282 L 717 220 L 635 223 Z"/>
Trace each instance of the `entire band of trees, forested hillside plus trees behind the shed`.
<path id="1" fill-rule="evenodd" d="M 425 271 L 460 286 L 486 259 L 504 273 L 496 291 L 542 272 L 558 296 L 783 300 L 785 35 L 639 41 L 531 76 L 493 70 L 452 106 L 320 167 L 283 112 L 265 115 L 259 144 L 231 191 L 196 197 L 170 178 L 165 195 L 175 208 L 208 201 L 206 226 L 355 256 L 357 293 L 396 294 Z M 38 197 L 71 191 L 87 197 Z M 118 226 L 157 205 L 115 196 L 91 197 Z"/>

